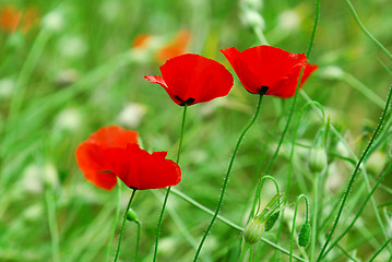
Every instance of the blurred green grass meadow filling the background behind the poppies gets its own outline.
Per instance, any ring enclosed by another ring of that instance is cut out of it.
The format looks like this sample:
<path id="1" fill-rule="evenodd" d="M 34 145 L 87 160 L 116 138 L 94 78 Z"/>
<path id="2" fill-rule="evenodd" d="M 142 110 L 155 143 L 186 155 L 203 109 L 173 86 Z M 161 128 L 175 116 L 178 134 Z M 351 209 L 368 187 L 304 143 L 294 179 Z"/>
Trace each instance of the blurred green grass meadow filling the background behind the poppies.
<path id="1" fill-rule="evenodd" d="M 0 8 L 9 2 L 0 0 Z M 188 28 L 192 34 L 189 51 L 229 68 L 219 53 L 222 48 L 243 50 L 268 40 L 288 51 L 308 52 L 317 7 L 314 1 L 283 0 L 264 1 L 262 8 L 256 4 L 253 9 L 245 1 L 229 0 L 12 3 L 20 10 L 35 7 L 40 24 L 27 34 L 0 31 L 0 261 L 10 262 L 105 261 L 118 192 L 88 183 L 76 166 L 74 151 L 103 126 L 130 128 L 118 117 L 129 103 L 140 104 L 145 110 L 140 123 L 132 127 L 140 132 L 143 147 L 168 151 L 169 158 L 176 159 L 182 108 L 162 87 L 143 79 L 145 74 L 158 74 L 161 64 L 152 51 L 132 49 L 138 35 L 155 35 L 154 45 L 159 46 Z M 281 192 L 287 195 L 287 205 L 272 230 L 250 249 L 252 261 L 288 261 L 294 209 L 301 194 L 309 199 L 309 223 L 312 226 L 317 219 L 317 234 L 311 235 L 312 245 L 297 245 L 296 236 L 306 216 L 300 201 L 293 253 L 304 261 L 314 261 L 356 166 L 358 172 L 331 238 L 333 248 L 325 249 L 329 252 L 322 261 L 392 259 L 392 245 L 387 239 L 392 228 L 391 114 L 385 114 L 380 132 L 372 136 L 384 108 L 391 109 L 385 102 L 392 79 L 392 5 L 388 0 L 353 2 L 365 26 L 361 28 L 347 3 L 321 1 L 309 56 L 320 69 L 298 93 L 294 109 L 293 98 L 263 97 L 261 114 L 239 147 L 219 216 L 200 261 L 240 258 L 241 228 L 263 175 L 275 178 Z M 250 10 L 261 15 L 264 27 L 260 17 L 250 23 Z M 48 25 L 48 17 L 62 22 L 55 28 Z M 305 106 L 308 102 L 312 103 Z M 246 92 L 235 76 L 227 97 L 188 108 L 180 162 L 182 181 L 169 196 L 158 261 L 192 261 L 216 210 L 238 135 L 251 120 L 257 103 L 258 96 Z M 328 118 L 329 165 L 319 174 L 316 192 L 316 176 L 307 158 Z M 373 143 L 363 155 L 371 138 Z M 360 168 L 364 166 L 367 168 Z M 130 195 L 130 190 L 121 187 L 120 217 Z M 190 199 L 186 201 L 180 192 Z M 275 193 L 275 186 L 265 180 L 261 206 Z M 165 190 L 140 191 L 132 202 L 141 222 L 140 261 L 153 259 L 164 194 Z M 109 247 L 110 260 L 120 226 L 121 219 Z M 121 261 L 133 261 L 136 235 L 138 225 L 127 223 Z"/>

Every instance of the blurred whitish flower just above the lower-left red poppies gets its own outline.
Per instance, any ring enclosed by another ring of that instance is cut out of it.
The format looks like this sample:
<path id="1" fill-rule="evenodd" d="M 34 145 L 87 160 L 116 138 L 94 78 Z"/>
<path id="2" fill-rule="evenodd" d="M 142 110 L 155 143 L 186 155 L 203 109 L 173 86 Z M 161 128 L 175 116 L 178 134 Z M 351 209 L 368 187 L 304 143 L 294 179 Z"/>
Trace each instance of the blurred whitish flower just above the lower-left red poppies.
<path id="1" fill-rule="evenodd" d="M 147 108 L 138 103 L 128 104 L 119 114 L 117 121 L 127 128 L 136 128 L 146 114 Z"/>

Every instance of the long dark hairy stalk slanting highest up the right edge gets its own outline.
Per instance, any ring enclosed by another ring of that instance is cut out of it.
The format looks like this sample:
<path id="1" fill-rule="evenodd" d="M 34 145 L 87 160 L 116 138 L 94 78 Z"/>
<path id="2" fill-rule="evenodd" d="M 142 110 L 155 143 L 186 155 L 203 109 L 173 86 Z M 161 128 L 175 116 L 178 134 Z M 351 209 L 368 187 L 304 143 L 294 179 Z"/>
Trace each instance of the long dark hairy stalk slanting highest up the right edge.
<path id="1" fill-rule="evenodd" d="M 334 224 L 333 224 L 333 226 L 332 226 L 332 229 L 331 229 L 329 236 L 326 237 L 326 240 L 325 240 L 323 247 L 321 248 L 321 251 L 320 251 L 320 254 L 319 254 L 317 261 L 321 261 L 321 259 L 322 259 L 322 257 L 323 257 L 323 252 L 325 251 L 325 249 L 326 249 L 329 242 L 331 241 L 332 235 L 334 234 L 334 231 L 335 231 L 335 229 L 336 229 L 337 223 L 338 223 L 338 221 L 340 221 L 340 218 L 341 218 L 343 209 L 344 209 L 344 206 L 345 206 L 345 204 L 346 204 L 346 201 L 347 201 L 347 199 L 348 199 L 349 191 L 351 191 L 351 189 L 352 189 L 352 187 L 353 187 L 353 184 L 354 184 L 354 181 L 355 181 L 356 175 L 357 175 L 357 172 L 358 172 L 358 170 L 359 170 L 359 167 L 361 166 L 364 158 L 366 157 L 368 151 L 370 150 L 370 147 L 371 147 L 371 145 L 372 145 L 372 143 L 373 143 L 373 141 L 375 141 L 375 139 L 376 139 L 376 136 L 377 136 L 379 130 L 381 129 L 384 119 L 385 119 L 385 116 L 387 116 L 387 112 L 388 112 L 388 108 L 389 108 L 389 106 L 390 106 L 391 97 L 392 97 L 392 87 L 390 88 L 390 92 L 389 92 L 389 95 L 388 95 L 388 99 L 387 99 L 387 103 L 385 103 L 385 107 L 384 107 L 384 109 L 383 109 L 383 111 L 382 111 L 382 116 L 381 116 L 381 119 L 380 119 L 380 121 L 379 121 L 379 124 L 377 126 L 377 128 L 376 128 L 376 130 L 375 130 L 375 132 L 373 132 L 373 134 L 372 134 L 372 136 L 371 136 L 371 139 L 370 139 L 370 141 L 369 141 L 369 143 L 368 143 L 368 145 L 366 146 L 364 153 L 361 154 L 359 160 L 357 162 L 357 165 L 356 165 L 356 167 L 355 167 L 355 169 L 354 169 L 354 171 L 353 171 L 353 174 L 352 174 L 352 178 L 349 179 L 348 186 L 347 186 L 347 188 L 346 188 L 346 190 L 345 190 L 345 193 L 344 193 L 344 196 L 343 196 L 343 200 L 342 200 L 342 204 L 341 204 L 341 206 L 340 206 L 340 209 L 338 209 L 338 212 L 337 212 L 335 222 L 334 222 Z"/>

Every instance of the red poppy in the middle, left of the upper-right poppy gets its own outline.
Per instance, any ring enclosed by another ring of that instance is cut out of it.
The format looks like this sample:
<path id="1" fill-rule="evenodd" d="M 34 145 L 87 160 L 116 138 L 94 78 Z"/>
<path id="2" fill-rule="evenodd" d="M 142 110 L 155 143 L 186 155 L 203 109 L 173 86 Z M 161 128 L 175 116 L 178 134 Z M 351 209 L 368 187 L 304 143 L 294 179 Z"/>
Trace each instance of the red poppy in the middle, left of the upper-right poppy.
<path id="1" fill-rule="evenodd" d="M 221 63 L 194 53 L 171 58 L 159 68 L 161 75 L 145 75 L 162 85 L 180 106 L 212 100 L 228 94 L 233 75 Z"/>

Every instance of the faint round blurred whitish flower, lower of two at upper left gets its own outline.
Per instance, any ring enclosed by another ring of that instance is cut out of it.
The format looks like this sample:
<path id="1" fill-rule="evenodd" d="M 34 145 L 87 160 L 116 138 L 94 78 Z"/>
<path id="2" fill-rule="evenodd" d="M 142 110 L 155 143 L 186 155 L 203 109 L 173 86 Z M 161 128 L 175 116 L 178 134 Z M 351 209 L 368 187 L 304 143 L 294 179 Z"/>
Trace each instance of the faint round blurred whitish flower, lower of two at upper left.
<path id="1" fill-rule="evenodd" d="M 81 36 L 63 36 L 58 44 L 59 52 L 68 58 L 80 58 L 87 51 L 87 45 Z"/>

